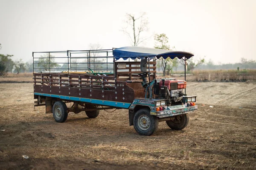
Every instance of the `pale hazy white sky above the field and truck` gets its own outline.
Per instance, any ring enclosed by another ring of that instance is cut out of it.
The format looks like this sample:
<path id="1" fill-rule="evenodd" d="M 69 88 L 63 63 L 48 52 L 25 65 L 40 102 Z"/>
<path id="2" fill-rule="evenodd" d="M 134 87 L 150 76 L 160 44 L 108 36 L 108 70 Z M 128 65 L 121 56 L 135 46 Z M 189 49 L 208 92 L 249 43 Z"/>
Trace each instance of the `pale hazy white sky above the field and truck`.
<path id="1" fill-rule="evenodd" d="M 0 54 L 32 61 L 32 52 L 131 46 L 126 14 L 146 12 L 149 37 L 166 34 L 195 59 L 256 60 L 256 0 L 0 0 Z"/>

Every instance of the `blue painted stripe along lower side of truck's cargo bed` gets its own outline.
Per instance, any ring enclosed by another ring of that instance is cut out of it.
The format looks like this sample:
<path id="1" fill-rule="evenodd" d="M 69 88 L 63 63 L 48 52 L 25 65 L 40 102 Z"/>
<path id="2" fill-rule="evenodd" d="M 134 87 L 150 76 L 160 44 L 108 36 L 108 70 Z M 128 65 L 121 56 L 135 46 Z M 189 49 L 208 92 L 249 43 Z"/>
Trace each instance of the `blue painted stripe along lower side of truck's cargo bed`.
<path id="1" fill-rule="evenodd" d="M 98 99 L 91 99 L 91 98 L 78 98 L 78 97 L 72 97 L 72 96 L 65 96 L 65 95 L 52 95 L 52 94 L 46 94 L 46 93 L 37 93 L 34 92 L 35 95 L 43 95 L 47 97 L 52 97 L 52 98 L 60 98 L 60 99 L 65 99 L 65 100 L 70 100 L 70 101 L 82 101 L 82 102 L 87 102 L 91 104 L 100 104 L 100 105 L 106 105 L 106 106 L 113 106 L 113 107 L 121 107 L 128 109 L 131 105 L 131 103 L 122 103 L 122 102 L 117 102 L 117 101 L 105 101 L 105 100 L 98 100 Z"/>

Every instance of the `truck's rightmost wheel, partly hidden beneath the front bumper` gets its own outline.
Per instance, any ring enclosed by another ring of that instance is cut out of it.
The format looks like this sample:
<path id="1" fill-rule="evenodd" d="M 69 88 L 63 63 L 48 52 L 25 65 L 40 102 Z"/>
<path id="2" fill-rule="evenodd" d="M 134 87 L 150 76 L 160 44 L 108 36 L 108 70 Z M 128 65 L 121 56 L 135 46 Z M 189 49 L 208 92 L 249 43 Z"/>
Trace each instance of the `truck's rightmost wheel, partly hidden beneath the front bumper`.
<path id="1" fill-rule="evenodd" d="M 189 114 L 175 116 L 175 120 L 166 121 L 166 124 L 173 130 L 183 130 L 189 123 Z"/>

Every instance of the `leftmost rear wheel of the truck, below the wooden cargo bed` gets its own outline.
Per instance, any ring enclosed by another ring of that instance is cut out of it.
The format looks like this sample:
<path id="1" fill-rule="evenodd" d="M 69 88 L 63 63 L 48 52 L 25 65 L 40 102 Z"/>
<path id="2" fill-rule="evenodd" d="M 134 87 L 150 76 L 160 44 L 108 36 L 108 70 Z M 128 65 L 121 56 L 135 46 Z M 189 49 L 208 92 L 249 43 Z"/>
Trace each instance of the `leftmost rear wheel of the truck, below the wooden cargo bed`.
<path id="1" fill-rule="evenodd" d="M 56 101 L 53 104 L 52 114 L 55 121 L 63 123 L 67 120 L 67 105 L 63 101 Z"/>

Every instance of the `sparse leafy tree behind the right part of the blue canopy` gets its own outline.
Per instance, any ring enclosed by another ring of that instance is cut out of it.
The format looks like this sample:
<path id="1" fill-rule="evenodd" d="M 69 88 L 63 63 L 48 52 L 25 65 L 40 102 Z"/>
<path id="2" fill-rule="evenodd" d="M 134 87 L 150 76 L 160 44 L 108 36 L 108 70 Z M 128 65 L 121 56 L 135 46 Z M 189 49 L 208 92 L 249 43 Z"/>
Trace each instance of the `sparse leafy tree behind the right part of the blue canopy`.
<path id="1" fill-rule="evenodd" d="M 156 34 L 154 39 L 157 41 L 155 43 L 154 48 L 156 49 L 167 49 L 167 50 L 171 50 L 170 46 L 168 45 L 168 37 L 166 36 L 166 34 Z M 175 47 L 172 47 L 175 48 Z M 172 70 L 172 59 L 171 58 L 160 58 L 158 63 L 160 63 L 160 66 L 163 70 L 163 76 L 166 75 L 166 70 L 167 70 L 167 75 L 170 74 L 170 71 Z"/>

